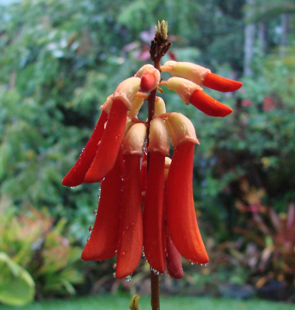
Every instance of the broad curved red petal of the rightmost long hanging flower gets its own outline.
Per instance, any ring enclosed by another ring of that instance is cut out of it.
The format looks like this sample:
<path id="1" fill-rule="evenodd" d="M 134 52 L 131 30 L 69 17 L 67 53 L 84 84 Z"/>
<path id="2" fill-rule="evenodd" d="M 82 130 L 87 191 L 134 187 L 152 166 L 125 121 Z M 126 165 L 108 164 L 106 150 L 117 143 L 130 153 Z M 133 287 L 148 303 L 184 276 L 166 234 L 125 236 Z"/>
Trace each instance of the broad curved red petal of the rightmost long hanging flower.
<path id="1" fill-rule="evenodd" d="M 166 186 L 166 220 L 177 250 L 193 262 L 208 263 L 199 232 L 193 198 L 194 143 L 185 142 L 174 151 Z"/>

